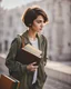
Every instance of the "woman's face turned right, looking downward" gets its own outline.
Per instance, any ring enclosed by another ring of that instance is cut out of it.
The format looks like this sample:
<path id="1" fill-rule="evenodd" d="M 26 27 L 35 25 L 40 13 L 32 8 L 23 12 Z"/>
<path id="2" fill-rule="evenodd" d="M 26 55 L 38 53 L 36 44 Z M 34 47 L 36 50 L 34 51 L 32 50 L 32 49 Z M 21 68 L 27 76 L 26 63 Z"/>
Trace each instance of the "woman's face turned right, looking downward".
<path id="1" fill-rule="evenodd" d="M 36 20 L 33 20 L 31 29 L 36 32 L 40 32 L 44 26 L 44 19 L 42 16 L 38 16 Z"/>

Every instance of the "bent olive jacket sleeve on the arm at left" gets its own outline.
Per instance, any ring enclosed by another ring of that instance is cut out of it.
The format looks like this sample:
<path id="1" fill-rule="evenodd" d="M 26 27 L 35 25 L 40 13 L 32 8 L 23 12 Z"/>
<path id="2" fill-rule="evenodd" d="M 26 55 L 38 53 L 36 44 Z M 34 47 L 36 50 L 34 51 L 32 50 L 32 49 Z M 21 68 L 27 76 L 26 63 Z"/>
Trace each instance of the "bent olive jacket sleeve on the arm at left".
<path id="1" fill-rule="evenodd" d="M 9 53 L 6 58 L 6 66 L 9 68 L 9 71 L 17 71 L 23 73 L 27 71 L 27 66 L 16 61 L 16 55 L 18 50 L 18 38 L 16 38 L 10 47 Z"/>

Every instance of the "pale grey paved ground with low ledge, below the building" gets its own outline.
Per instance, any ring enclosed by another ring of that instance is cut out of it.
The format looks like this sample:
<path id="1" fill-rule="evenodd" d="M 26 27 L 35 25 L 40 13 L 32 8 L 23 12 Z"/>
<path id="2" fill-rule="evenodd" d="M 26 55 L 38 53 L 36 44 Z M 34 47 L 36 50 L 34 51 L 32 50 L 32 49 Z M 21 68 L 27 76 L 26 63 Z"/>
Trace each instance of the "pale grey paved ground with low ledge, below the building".
<path id="1" fill-rule="evenodd" d="M 6 56 L 0 56 L 0 73 L 9 75 L 8 68 L 4 63 Z M 53 61 L 47 63 L 45 72 L 48 78 L 43 89 L 71 89 L 71 61 L 64 61 L 62 63 Z"/>

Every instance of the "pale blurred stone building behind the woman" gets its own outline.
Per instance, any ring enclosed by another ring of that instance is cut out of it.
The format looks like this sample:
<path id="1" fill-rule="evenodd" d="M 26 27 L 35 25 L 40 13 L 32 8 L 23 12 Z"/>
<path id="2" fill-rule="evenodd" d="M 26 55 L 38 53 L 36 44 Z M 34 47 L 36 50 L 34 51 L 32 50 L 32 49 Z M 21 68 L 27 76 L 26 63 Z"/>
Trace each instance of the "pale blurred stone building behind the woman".
<path id="1" fill-rule="evenodd" d="M 40 6 L 49 17 L 42 31 L 48 39 L 49 58 L 71 60 L 71 0 L 40 0 L 11 10 L 0 7 L 0 52 L 7 53 L 12 39 L 27 29 L 21 16 L 31 6 Z"/>

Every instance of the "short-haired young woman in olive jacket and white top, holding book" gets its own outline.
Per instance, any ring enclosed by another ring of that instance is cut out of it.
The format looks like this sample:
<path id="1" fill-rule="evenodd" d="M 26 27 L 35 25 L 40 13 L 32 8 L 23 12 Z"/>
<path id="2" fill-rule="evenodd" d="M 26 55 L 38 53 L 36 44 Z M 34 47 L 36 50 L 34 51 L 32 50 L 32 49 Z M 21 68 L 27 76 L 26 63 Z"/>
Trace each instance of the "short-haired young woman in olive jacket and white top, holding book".
<path id="1" fill-rule="evenodd" d="M 48 17 L 41 8 L 28 8 L 22 16 L 22 21 L 28 27 L 28 30 L 21 36 L 24 41 L 22 41 L 20 36 L 12 41 L 6 59 L 6 66 L 9 68 L 10 75 L 20 80 L 20 89 L 42 89 L 47 79 L 44 72 L 47 62 L 47 39 L 41 34 L 41 30 L 48 22 Z M 22 65 L 16 61 L 18 49 L 22 48 L 22 42 L 24 42 L 24 46 L 30 43 L 42 51 L 42 58 L 39 66 L 34 66 L 36 62 Z"/>

